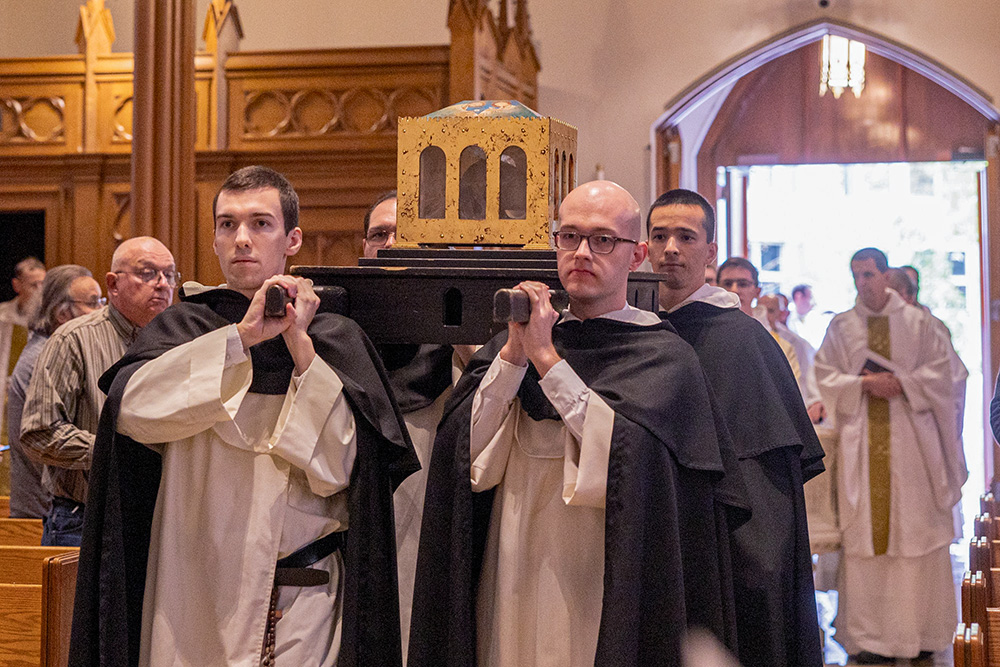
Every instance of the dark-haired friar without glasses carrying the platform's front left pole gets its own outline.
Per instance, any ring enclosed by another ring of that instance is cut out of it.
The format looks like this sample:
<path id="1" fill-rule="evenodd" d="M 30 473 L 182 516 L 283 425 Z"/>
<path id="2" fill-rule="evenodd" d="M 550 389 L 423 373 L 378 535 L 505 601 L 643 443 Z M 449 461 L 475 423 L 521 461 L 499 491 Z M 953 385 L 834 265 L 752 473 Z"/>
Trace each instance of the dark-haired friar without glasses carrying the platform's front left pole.
<path id="1" fill-rule="evenodd" d="M 186 283 L 103 380 L 70 664 L 398 666 L 392 490 L 415 459 L 384 374 L 285 275 L 284 176 L 236 171 L 213 213 L 226 284 Z"/>

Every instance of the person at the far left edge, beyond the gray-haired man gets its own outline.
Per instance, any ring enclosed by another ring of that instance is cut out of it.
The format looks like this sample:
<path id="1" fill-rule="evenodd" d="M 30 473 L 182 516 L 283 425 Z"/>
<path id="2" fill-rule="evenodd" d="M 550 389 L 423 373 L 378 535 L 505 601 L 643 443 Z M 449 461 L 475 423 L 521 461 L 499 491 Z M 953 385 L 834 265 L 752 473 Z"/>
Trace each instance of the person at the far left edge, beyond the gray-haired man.
<path id="1" fill-rule="evenodd" d="M 33 297 L 45 280 L 45 265 L 35 257 L 26 257 L 14 266 L 10 284 L 16 295 L 0 303 L 0 407 L 7 396 L 7 382 L 14 365 L 28 343 L 28 324 L 34 310 Z M 7 411 L 0 410 L 0 427 Z M 0 428 L 0 441 L 7 444 L 7 429 Z"/>

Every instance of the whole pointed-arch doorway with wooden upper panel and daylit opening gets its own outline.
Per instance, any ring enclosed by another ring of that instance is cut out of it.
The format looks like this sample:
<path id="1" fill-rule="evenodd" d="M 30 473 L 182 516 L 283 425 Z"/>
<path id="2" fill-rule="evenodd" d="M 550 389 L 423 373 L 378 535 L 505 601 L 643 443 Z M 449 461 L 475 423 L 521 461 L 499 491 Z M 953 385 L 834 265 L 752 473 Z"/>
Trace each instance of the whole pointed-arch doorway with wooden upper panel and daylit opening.
<path id="1" fill-rule="evenodd" d="M 654 193 L 683 187 L 716 203 L 719 263 L 749 259 L 765 294 L 811 287 L 812 319 L 823 323 L 813 345 L 854 305 L 855 251 L 878 247 L 890 265 L 920 272 L 919 300 L 948 325 L 969 370 L 965 541 L 952 548 L 959 581 L 979 496 L 1000 479 L 988 425 L 1000 365 L 998 122 L 992 101 L 943 65 L 822 21 L 720 65 L 668 103 L 650 136 Z M 835 467 L 836 433 L 826 432 Z M 836 554 L 835 476 L 810 484 L 807 505 L 820 510 L 810 509 L 813 551 Z M 817 571 L 817 589 L 831 589 L 828 638 L 834 569 L 824 574 L 821 559 Z M 846 660 L 827 646 L 829 662 Z"/>

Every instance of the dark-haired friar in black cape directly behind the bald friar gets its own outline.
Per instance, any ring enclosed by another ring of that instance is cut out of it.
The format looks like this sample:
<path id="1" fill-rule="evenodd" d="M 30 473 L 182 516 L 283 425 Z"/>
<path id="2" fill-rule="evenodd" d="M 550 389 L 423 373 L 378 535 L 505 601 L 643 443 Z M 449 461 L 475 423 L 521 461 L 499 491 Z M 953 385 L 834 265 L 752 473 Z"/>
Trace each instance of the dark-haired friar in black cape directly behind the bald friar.
<path id="1" fill-rule="evenodd" d="M 795 376 L 774 338 L 740 312 L 740 298 L 705 284 L 718 253 L 711 204 L 671 190 L 646 224 L 650 264 L 665 274 L 662 315 L 701 360 L 750 498 L 750 520 L 730 534 L 740 662 L 821 665 L 802 485 L 823 471 L 823 449 Z M 719 282 L 729 276 L 739 279 L 720 267 Z"/>

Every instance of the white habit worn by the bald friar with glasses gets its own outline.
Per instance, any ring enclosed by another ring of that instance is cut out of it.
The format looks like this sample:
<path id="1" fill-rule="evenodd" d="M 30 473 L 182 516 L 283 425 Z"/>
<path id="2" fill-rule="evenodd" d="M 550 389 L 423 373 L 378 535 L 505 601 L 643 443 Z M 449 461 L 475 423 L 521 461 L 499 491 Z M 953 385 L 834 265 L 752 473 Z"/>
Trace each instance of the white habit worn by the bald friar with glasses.
<path id="1" fill-rule="evenodd" d="M 603 317 L 660 323 L 630 306 Z M 498 355 L 472 404 L 472 489 L 496 487 L 479 580 L 479 664 L 593 667 L 615 413 L 563 360 L 539 383 L 562 419 L 536 422 L 517 398 L 526 368 Z"/>

